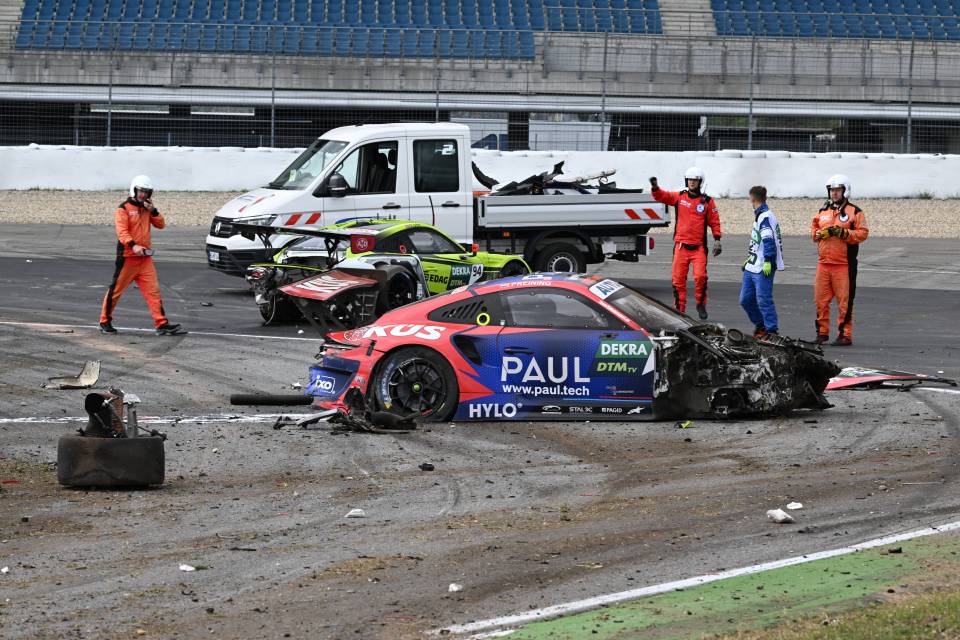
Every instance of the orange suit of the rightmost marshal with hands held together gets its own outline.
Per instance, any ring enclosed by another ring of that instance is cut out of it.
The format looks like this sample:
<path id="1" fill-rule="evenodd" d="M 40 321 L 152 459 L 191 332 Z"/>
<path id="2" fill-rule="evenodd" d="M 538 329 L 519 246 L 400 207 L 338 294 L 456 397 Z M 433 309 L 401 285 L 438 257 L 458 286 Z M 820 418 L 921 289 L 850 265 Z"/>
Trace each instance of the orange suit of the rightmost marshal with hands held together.
<path id="1" fill-rule="evenodd" d="M 820 238 L 822 229 L 842 229 Z M 853 339 L 853 299 L 857 294 L 857 254 L 870 235 L 867 217 L 857 205 L 844 200 L 827 203 L 813 217 L 810 237 L 817 243 L 817 275 L 813 283 L 817 306 L 817 335 L 830 333 L 830 301 L 837 299 L 837 336 Z"/>

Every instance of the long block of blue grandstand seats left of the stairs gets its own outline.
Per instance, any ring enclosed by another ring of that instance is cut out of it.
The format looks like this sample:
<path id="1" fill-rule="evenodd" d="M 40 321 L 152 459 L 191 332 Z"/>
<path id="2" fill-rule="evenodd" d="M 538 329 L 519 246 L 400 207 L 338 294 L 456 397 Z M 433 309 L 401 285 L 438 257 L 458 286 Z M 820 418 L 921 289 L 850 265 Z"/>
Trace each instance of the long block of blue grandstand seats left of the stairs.
<path id="1" fill-rule="evenodd" d="M 21 49 L 533 58 L 538 31 L 661 33 L 656 0 L 26 0 Z"/>

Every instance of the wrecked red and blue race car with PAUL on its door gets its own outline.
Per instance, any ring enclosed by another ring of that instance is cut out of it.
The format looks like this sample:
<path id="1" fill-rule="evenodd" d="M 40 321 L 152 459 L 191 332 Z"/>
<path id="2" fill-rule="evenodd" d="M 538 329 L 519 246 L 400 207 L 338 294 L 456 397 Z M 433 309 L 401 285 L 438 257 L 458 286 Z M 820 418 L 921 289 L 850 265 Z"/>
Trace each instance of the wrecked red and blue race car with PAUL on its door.
<path id="1" fill-rule="evenodd" d="M 839 367 L 811 344 L 699 324 L 596 276 L 462 287 L 333 333 L 319 408 L 436 420 L 733 418 L 829 406 Z"/>

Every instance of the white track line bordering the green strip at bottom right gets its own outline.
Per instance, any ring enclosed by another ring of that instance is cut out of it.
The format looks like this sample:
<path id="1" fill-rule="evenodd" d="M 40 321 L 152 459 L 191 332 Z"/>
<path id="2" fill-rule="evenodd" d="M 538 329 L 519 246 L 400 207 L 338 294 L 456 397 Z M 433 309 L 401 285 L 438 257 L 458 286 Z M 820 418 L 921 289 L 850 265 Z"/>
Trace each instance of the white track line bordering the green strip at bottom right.
<path id="1" fill-rule="evenodd" d="M 739 569 L 730 569 L 727 571 L 721 571 L 720 573 L 709 573 L 706 575 L 694 576 L 692 578 L 685 578 L 683 580 L 674 580 L 672 582 L 655 584 L 649 587 L 640 587 L 639 589 L 631 589 L 630 591 L 620 591 L 618 593 L 611 593 L 603 596 L 595 596 L 593 598 L 586 598 L 584 600 L 576 600 L 574 602 L 557 604 L 551 607 L 544 607 L 543 609 L 535 609 L 533 611 L 525 611 L 524 613 L 518 613 L 510 616 L 490 618 L 489 620 L 478 620 L 476 622 L 470 622 L 467 624 L 451 625 L 449 627 L 444 627 L 443 629 L 432 631 L 431 634 L 440 634 L 440 633 L 464 634 L 464 633 L 489 632 L 494 629 L 503 629 L 504 627 L 522 625 L 528 622 L 533 622 L 535 620 L 546 620 L 548 618 L 555 618 L 557 616 L 568 615 L 568 614 L 577 613 L 580 611 L 587 611 L 590 609 L 596 609 L 605 605 L 615 604 L 618 602 L 624 602 L 627 600 L 636 600 L 638 598 L 656 595 L 659 593 L 666 593 L 668 591 L 676 591 L 677 589 L 687 589 L 689 587 L 696 587 L 701 584 L 708 584 L 710 582 L 725 580 L 727 578 L 735 578 L 737 576 L 744 576 L 752 573 L 759 573 L 761 571 L 770 571 L 771 569 L 780 569 L 781 567 L 790 567 L 793 565 L 805 564 L 807 562 L 813 562 L 814 560 L 834 558 L 836 556 L 843 556 L 850 553 L 855 553 L 857 551 L 863 551 L 865 549 L 882 547 L 884 545 L 893 544 L 896 542 L 902 542 L 904 540 L 912 540 L 913 538 L 922 538 L 923 536 L 930 536 L 936 533 L 943 533 L 945 531 L 953 531 L 956 529 L 960 529 L 960 521 L 950 522 L 948 524 L 944 524 L 939 527 L 929 527 L 926 529 L 918 529 L 916 531 L 910 531 L 908 533 L 899 533 L 892 536 L 885 536 L 883 538 L 876 538 L 874 540 L 868 540 L 866 542 L 861 542 L 859 544 L 855 544 L 849 547 L 841 547 L 839 549 L 830 549 L 828 551 L 818 551 L 816 553 L 811 553 L 804 556 L 795 556 L 793 558 L 785 558 L 783 560 L 763 562 L 761 564 L 755 564 L 749 567 L 740 567 Z M 490 636 L 487 633 L 487 634 L 482 634 L 479 636 L 472 636 L 472 637 L 481 638 L 481 637 L 493 637 L 493 636 Z"/>

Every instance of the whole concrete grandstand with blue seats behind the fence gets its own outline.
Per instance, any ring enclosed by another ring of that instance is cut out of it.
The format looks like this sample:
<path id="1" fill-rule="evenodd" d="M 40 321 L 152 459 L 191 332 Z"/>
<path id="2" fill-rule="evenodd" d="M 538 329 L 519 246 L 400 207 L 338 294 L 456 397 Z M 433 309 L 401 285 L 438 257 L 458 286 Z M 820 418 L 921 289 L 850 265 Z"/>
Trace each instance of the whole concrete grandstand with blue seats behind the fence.
<path id="1" fill-rule="evenodd" d="M 563 148 L 960 152 L 958 12 L 954 0 L 0 0 L 0 144 L 301 146 L 344 124 L 459 118 L 490 120 L 478 143 L 509 148 L 557 145 L 541 133 L 552 127 L 571 132 Z"/>

